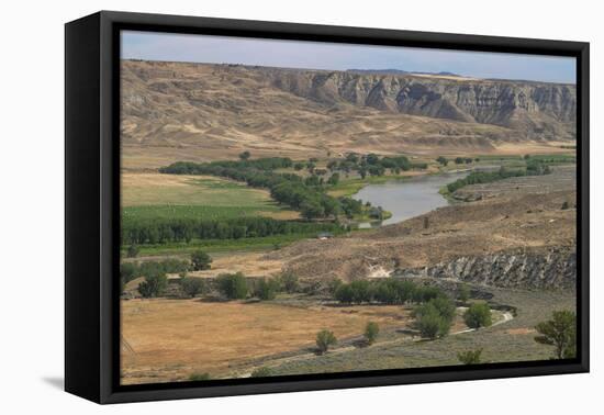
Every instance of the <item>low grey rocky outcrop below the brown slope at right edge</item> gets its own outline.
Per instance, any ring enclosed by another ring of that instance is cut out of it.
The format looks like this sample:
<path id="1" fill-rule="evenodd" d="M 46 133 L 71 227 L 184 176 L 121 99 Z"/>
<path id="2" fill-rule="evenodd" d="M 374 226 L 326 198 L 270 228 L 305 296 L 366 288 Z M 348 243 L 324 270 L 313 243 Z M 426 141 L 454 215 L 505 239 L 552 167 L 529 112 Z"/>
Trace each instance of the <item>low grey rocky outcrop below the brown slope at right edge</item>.
<path id="1" fill-rule="evenodd" d="M 574 289 L 577 255 L 573 250 L 518 250 L 465 256 L 434 266 L 401 269 L 393 277 L 452 279 L 492 287 Z"/>

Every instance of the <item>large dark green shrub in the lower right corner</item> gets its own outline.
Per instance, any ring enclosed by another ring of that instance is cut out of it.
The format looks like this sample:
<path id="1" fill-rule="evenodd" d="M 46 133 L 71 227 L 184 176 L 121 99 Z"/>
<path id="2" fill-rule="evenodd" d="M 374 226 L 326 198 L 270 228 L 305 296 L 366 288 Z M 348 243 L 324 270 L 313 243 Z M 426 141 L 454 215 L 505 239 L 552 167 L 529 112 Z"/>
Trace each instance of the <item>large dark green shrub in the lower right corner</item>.
<path id="1" fill-rule="evenodd" d="M 571 359 L 577 355 L 577 316 L 570 311 L 556 311 L 552 318 L 535 327 L 540 336 L 535 341 L 555 346 L 555 357 Z"/>

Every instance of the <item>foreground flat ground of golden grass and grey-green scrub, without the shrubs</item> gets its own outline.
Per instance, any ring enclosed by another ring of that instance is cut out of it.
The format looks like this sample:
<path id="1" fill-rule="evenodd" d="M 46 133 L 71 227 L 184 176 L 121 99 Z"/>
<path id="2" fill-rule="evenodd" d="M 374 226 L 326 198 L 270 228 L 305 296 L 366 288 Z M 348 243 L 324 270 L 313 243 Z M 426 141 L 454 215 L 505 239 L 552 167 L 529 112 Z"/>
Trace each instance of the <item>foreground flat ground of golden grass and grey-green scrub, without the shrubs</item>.
<path id="1" fill-rule="evenodd" d="M 574 292 L 474 287 L 490 298 L 494 324 L 468 330 L 458 309 L 449 336 L 424 340 L 411 328 L 410 309 L 339 306 L 321 298 L 281 296 L 261 303 L 130 300 L 122 304 L 124 384 L 460 364 L 457 352 L 483 349 L 484 362 L 547 360 L 535 325 L 552 311 L 574 310 Z M 492 296 L 491 296 L 492 294 Z M 362 343 L 368 321 L 380 325 L 376 344 Z M 327 328 L 338 346 L 317 356 L 314 334 Z"/>

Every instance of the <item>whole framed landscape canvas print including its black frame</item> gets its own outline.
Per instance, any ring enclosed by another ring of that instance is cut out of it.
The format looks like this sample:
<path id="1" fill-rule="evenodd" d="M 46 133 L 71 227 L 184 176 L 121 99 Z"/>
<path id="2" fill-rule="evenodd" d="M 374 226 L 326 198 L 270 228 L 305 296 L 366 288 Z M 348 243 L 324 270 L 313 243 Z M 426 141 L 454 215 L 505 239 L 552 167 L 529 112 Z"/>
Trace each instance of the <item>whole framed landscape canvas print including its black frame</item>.
<path id="1" fill-rule="evenodd" d="M 66 25 L 66 390 L 589 370 L 586 43 Z"/>

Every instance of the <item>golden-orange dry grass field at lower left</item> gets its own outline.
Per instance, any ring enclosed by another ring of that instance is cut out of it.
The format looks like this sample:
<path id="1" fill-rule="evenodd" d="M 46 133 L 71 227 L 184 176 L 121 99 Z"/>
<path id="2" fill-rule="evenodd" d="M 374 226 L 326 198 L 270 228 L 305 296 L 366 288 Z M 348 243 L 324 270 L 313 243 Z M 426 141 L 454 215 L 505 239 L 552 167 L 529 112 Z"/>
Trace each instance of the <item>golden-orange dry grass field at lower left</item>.
<path id="1" fill-rule="evenodd" d="M 232 377 L 246 361 L 313 346 L 323 328 L 338 339 L 359 336 L 369 321 L 382 329 L 403 327 L 409 312 L 394 305 L 123 301 L 122 382 L 182 381 L 194 372 Z"/>

